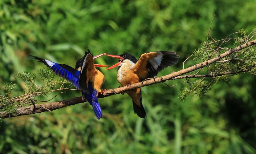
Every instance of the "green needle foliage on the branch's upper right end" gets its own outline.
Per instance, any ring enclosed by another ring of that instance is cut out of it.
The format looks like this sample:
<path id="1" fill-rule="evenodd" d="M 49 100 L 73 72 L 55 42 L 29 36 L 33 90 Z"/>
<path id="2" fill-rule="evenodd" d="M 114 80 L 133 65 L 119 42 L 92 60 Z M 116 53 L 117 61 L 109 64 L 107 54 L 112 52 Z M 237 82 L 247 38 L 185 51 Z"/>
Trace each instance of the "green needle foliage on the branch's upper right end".
<path id="1" fill-rule="evenodd" d="M 197 50 L 193 51 L 193 57 L 194 59 L 200 60 L 209 60 L 212 59 L 226 51 L 229 51 L 230 48 L 222 47 L 226 46 L 227 44 L 230 44 L 233 40 L 233 45 L 240 46 L 242 44 L 247 43 L 252 38 L 255 38 L 256 31 L 255 29 L 247 35 L 248 30 L 245 28 L 242 28 L 238 31 L 238 34 L 242 35 L 243 37 L 237 37 L 232 38 L 232 34 L 226 37 L 225 39 L 221 40 L 214 40 L 211 35 L 209 37 L 211 38 L 209 41 L 201 43 L 200 47 L 198 47 Z M 236 33 L 233 33 L 233 35 Z M 234 48 L 234 47 L 231 47 Z M 225 82 L 227 85 L 230 85 L 231 80 L 230 76 L 232 75 L 222 75 L 218 76 L 222 73 L 231 72 L 234 74 L 239 74 L 241 72 L 250 72 L 252 75 L 255 75 L 255 65 L 256 65 L 256 52 L 255 47 L 249 47 L 243 50 L 239 50 L 234 52 L 232 55 L 226 56 L 224 59 L 221 59 L 220 61 L 217 61 L 217 63 L 214 63 L 214 65 L 211 65 L 207 68 L 207 74 L 213 75 L 213 79 L 208 82 L 205 80 L 197 79 L 196 81 L 190 83 L 189 79 L 187 80 L 187 83 L 190 84 L 190 89 L 187 87 L 184 87 L 179 92 L 179 98 L 181 98 L 184 101 L 184 98 L 188 96 L 191 92 L 197 94 L 200 98 L 204 96 L 213 85 L 215 85 L 218 82 Z M 201 71 L 201 69 L 196 73 L 198 74 Z M 205 74 L 205 73 L 203 73 Z M 215 76 L 214 76 L 215 75 Z M 204 78 L 205 79 L 205 78 Z M 191 90 L 192 89 L 192 90 Z"/>

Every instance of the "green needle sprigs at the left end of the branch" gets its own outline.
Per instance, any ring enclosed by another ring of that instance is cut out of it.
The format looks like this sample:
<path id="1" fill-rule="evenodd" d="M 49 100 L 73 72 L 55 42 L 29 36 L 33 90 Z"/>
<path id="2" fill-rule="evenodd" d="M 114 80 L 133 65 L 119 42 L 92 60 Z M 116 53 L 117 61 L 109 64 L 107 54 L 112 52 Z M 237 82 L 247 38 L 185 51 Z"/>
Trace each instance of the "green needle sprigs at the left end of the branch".
<path id="1" fill-rule="evenodd" d="M 40 69 L 37 74 L 26 71 L 16 73 L 14 78 L 25 82 L 24 91 L 22 95 L 12 95 L 11 93 L 16 87 L 16 84 L 5 83 L 5 95 L 0 95 L 0 111 L 14 113 L 17 107 L 37 103 L 40 100 L 38 98 L 42 98 L 42 96 L 48 96 L 53 94 L 54 91 L 67 90 L 71 87 L 70 83 L 66 84 L 68 83 L 67 80 L 62 78 L 55 79 L 54 77 L 55 74 L 45 68 Z M 41 79 L 41 82 L 37 84 L 38 79 Z"/>

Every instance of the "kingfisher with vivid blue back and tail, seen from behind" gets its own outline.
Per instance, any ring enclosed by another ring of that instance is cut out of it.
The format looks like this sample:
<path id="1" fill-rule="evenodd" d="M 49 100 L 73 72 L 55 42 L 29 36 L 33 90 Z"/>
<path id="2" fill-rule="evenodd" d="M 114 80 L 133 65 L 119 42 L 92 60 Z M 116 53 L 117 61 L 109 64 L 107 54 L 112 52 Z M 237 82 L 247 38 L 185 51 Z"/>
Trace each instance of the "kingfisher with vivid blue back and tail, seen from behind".
<path id="1" fill-rule="evenodd" d="M 76 89 L 82 91 L 82 98 L 87 99 L 93 108 L 96 118 L 102 118 L 102 111 L 98 103 L 98 93 L 103 93 L 106 90 L 101 90 L 105 81 L 104 75 L 95 67 L 108 67 L 108 65 L 94 64 L 94 59 L 99 58 L 106 53 L 92 56 L 90 50 L 84 53 L 84 56 L 79 59 L 75 68 L 66 64 L 55 63 L 37 56 L 29 55 L 30 58 L 36 59 L 44 63 L 47 67 L 58 76 L 68 80 Z"/>

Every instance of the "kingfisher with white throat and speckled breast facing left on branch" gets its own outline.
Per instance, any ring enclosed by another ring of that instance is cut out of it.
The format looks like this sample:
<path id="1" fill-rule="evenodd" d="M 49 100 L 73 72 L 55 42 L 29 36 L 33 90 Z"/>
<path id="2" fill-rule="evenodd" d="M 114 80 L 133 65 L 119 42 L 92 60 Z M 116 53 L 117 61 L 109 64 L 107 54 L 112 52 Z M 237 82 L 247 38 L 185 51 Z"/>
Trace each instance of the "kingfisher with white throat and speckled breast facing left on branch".
<path id="1" fill-rule="evenodd" d="M 118 63 L 106 70 L 119 66 L 117 80 L 124 87 L 138 83 L 148 78 L 154 78 L 164 68 L 178 63 L 179 55 L 175 51 L 154 51 L 140 55 L 137 60 L 131 54 L 107 55 L 120 59 Z M 133 111 L 140 118 L 145 118 L 146 111 L 142 104 L 141 89 L 136 88 L 126 92 L 132 98 Z"/>

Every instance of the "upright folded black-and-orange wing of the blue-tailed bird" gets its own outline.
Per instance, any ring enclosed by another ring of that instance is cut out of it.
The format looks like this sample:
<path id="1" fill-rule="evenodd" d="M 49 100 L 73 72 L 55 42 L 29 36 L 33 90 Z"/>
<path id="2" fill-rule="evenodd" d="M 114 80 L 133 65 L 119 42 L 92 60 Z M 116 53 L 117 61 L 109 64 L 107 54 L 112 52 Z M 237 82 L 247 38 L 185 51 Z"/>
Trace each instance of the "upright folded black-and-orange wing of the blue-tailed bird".
<path id="1" fill-rule="evenodd" d="M 79 76 L 79 87 L 88 93 L 88 83 L 89 79 L 91 79 L 95 72 L 96 68 L 93 65 L 94 60 L 93 56 L 91 55 L 91 52 L 85 52 L 82 60 L 82 65 L 81 65 L 81 71 L 80 71 L 80 76 Z"/>

